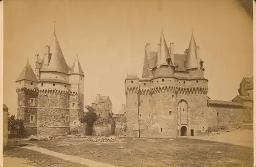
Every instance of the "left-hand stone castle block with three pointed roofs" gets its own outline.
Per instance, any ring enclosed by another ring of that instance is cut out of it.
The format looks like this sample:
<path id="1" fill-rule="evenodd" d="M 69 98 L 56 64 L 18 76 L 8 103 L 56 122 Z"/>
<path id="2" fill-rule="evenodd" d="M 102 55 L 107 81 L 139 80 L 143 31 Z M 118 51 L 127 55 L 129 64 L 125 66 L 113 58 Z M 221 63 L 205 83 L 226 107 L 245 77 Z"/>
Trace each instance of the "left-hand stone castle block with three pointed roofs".
<path id="1" fill-rule="evenodd" d="M 69 67 L 54 28 L 44 57 L 35 57 L 35 72 L 28 61 L 16 79 L 17 117 L 24 120 L 28 135 L 69 134 L 83 113 L 84 75 L 78 56 Z"/>

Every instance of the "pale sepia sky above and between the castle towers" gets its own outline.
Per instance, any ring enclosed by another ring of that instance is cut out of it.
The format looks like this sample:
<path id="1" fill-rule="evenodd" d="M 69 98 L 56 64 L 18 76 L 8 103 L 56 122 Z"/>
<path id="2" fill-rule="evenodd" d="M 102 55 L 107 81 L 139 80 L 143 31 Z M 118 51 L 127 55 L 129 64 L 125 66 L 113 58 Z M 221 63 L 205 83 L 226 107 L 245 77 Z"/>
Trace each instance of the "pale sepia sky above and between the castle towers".
<path id="1" fill-rule="evenodd" d="M 157 50 L 161 27 L 175 53 L 188 47 L 191 29 L 205 62 L 208 95 L 232 100 L 243 77 L 253 75 L 252 18 L 236 1 L 22 1 L 4 4 L 4 103 L 17 112 L 15 80 L 27 58 L 44 55 L 53 20 L 69 65 L 78 53 L 84 72 L 84 103 L 109 96 L 113 112 L 125 104 L 127 73 L 141 77 L 144 45 Z"/>

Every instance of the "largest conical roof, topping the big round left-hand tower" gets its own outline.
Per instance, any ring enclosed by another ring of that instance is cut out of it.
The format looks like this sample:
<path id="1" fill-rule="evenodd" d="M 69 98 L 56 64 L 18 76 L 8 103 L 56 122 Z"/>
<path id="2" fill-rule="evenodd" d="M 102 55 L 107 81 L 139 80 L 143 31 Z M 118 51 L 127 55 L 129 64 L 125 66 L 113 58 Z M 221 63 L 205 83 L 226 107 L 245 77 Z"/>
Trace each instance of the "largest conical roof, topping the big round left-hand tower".
<path id="1" fill-rule="evenodd" d="M 69 67 L 66 63 L 66 60 L 63 56 L 63 53 L 61 51 L 55 26 L 54 26 L 54 33 L 53 33 L 53 39 L 52 43 L 50 45 L 50 57 L 49 57 L 49 65 L 47 66 L 47 63 L 42 65 L 42 68 L 40 71 L 56 71 L 61 73 L 69 73 Z"/>

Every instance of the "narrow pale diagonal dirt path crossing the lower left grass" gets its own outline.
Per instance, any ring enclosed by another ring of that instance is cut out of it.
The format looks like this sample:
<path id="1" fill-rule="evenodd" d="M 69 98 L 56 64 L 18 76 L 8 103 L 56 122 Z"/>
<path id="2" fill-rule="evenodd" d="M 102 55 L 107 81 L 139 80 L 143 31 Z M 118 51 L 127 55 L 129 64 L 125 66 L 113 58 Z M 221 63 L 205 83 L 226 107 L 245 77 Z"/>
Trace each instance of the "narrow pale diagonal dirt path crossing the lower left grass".
<path id="1" fill-rule="evenodd" d="M 38 151 L 42 154 L 51 155 L 51 156 L 54 156 L 56 158 L 61 158 L 63 160 L 68 160 L 68 161 L 71 161 L 71 162 L 74 162 L 74 163 L 79 163 L 79 164 L 87 165 L 87 166 L 90 166 L 90 167 L 117 167 L 115 165 L 101 163 L 101 162 L 93 161 L 93 160 L 90 160 L 90 159 L 85 159 L 85 158 L 72 156 L 72 155 L 67 155 L 67 154 L 61 154 L 61 153 L 58 153 L 58 152 L 50 151 L 50 150 L 40 148 L 40 147 L 36 147 L 36 146 L 25 146 L 25 147 L 22 147 L 22 148 Z M 31 167 L 31 166 L 29 166 L 29 167 Z"/>

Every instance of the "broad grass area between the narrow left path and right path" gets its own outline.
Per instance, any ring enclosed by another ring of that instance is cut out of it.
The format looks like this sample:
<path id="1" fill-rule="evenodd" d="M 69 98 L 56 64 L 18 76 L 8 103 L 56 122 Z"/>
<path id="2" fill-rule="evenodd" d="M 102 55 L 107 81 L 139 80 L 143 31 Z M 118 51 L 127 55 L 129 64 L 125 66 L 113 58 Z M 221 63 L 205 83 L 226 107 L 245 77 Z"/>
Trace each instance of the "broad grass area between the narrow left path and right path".
<path id="1" fill-rule="evenodd" d="M 72 142 L 76 141 L 72 140 Z M 81 143 L 81 141 L 77 142 Z M 57 146 L 57 141 L 36 142 L 36 144 L 52 151 L 110 163 L 119 167 L 250 167 L 253 165 L 252 148 L 191 138 L 176 138 L 174 140 L 155 138 L 154 142 L 150 142 L 146 138 L 137 140 L 126 138 L 123 143 L 83 142 L 78 146 Z"/>

